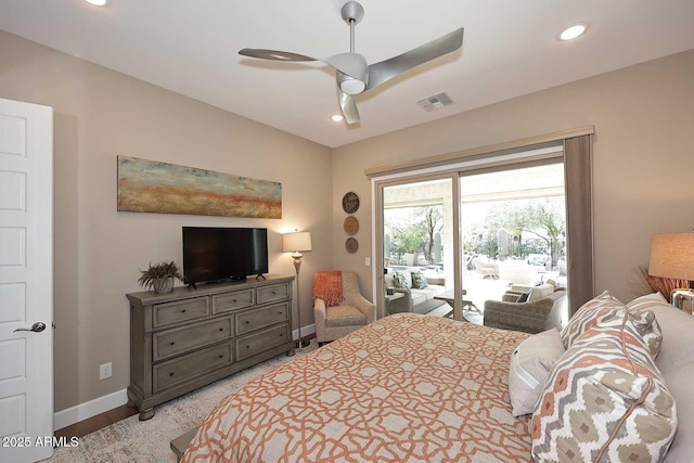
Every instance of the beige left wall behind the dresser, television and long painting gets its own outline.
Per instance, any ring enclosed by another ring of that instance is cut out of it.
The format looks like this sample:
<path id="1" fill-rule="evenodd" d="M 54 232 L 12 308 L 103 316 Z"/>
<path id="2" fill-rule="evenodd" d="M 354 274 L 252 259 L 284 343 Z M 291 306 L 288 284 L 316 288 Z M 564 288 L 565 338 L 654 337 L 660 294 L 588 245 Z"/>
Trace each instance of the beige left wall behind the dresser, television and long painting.
<path id="1" fill-rule="evenodd" d="M 204 80 L 201 81 L 204 85 Z M 125 294 L 150 261 L 182 262 L 182 226 L 267 227 L 270 272 L 294 274 L 281 233 L 310 230 L 304 324 L 316 270 L 332 266 L 331 150 L 0 31 L 0 98 L 53 106 L 55 410 L 129 382 Z M 282 183 L 283 218 L 116 211 L 116 155 Z M 180 283 L 179 283 L 180 284 Z M 99 365 L 113 362 L 113 377 Z"/>

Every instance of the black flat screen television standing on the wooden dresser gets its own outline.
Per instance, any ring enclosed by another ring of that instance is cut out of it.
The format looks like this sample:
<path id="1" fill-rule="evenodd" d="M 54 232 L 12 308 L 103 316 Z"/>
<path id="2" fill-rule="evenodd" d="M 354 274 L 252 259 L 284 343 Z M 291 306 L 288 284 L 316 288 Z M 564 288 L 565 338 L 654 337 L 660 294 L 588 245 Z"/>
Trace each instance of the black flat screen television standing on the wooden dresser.
<path id="1" fill-rule="evenodd" d="M 189 285 L 267 272 L 267 229 L 183 227 L 183 280 Z"/>

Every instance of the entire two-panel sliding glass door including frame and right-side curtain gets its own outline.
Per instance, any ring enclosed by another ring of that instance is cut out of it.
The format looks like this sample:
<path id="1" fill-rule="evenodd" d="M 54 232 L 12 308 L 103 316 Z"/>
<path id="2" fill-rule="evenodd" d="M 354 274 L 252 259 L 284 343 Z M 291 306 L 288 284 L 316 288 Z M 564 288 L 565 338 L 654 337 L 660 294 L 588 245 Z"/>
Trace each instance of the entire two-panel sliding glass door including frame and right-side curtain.
<path id="1" fill-rule="evenodd" d="M 434 314 L 480 324 L 485 301 L 500 300 L 512 286 L 563 286 L 565 320 L 592 297 L 589 136 L 372 181 L 381 317 L 402 310 L 397 300 L 404 296 L 393 286 L 403 271 L 410 272 L 403 284 L 412 285 L 411 272 L 419 271 L 444 282 L 447 296 L 416 310 L 412 294 L 409 310 L 446 301 Z"/>

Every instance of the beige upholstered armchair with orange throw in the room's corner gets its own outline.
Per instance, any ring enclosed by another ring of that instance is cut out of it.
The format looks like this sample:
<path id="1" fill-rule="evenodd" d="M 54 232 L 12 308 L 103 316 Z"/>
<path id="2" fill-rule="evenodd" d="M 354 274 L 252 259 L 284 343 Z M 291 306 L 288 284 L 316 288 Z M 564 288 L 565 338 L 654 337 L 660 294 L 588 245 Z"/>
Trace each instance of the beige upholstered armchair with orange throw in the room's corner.
<path id="1" fill-rule="evenodd" d="M 321 274 L 322 273 L 322 274 Z M 322 278 L 336 272 L 317 272 L 313 287 L 313 319 L 318 343 L 335 340 L 376 320 L 376 307 L 359 293 L 357 273 L 342 272 L 342 295 L 336 300 L 320 297 L 317 287 Z M 335 304 L 335 305 L 333 305 Z"/>

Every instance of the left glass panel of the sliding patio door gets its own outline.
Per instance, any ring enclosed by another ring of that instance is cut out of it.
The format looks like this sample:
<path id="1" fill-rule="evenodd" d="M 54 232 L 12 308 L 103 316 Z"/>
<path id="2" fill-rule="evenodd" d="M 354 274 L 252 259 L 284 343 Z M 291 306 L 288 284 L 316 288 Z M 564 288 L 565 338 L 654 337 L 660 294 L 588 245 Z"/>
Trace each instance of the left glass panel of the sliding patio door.
<path id="1" fill-rule="evenodd" d="M 453 314 L 454 296 L 460 294 L 457 189 L 453 175 L 380 184 L 382 316 L 401 311 Z"/>

